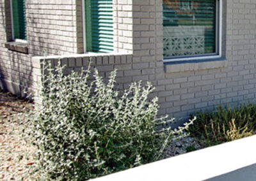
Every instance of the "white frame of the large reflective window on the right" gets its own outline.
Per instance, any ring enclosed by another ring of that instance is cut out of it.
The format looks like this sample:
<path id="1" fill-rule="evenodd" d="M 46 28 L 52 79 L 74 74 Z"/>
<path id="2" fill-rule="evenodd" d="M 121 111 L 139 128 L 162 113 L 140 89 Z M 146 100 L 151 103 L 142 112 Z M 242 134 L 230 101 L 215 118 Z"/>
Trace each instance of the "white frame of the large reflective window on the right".
<path id="1" fill-rule="evenodd" d="M 177 58 L 164 58 L 163 62 L 177 62 L 177 61 L 196 61 L 196 60 L 204 60 L 204 59 L 220 59 L 222 56 L 222 0 L 216 0 L 216 7 L 217 7 L 217 13 L 218 18 L 216 18 L 217 28 L 216 28 L 216 40 L 218 40 L 218 43 L 216 43 L 216 55 L 198 55 L 193 57 L 177 57 Z"/>

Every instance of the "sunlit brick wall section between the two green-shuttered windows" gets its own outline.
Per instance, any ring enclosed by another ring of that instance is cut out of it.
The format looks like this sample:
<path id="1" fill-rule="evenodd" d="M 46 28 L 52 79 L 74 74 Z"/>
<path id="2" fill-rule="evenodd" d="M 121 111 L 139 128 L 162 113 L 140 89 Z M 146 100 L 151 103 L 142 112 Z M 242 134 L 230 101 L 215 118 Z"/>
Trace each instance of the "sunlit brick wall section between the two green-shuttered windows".
<path id="1" fill-rule="evenodd" d="M 75 0 L 26 1 L 29 53 L 77 54 L 76 7 Z"/>

